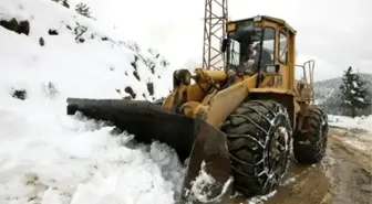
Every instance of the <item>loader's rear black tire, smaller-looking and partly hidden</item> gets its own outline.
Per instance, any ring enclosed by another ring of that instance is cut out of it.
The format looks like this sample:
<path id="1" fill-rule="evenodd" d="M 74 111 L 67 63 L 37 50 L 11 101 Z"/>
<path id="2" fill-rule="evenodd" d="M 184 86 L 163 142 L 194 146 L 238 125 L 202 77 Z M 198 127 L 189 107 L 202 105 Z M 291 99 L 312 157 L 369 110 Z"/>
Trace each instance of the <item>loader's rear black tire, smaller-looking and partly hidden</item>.
<path id="1" fill-rule="evenodd" d="M 327 149 L 328 118 L 317 106 L 310 106 L 308 117 L 309 131 L 293 135 L 293 154 L 299 163 L 313 164 L 320 162 Z"/>

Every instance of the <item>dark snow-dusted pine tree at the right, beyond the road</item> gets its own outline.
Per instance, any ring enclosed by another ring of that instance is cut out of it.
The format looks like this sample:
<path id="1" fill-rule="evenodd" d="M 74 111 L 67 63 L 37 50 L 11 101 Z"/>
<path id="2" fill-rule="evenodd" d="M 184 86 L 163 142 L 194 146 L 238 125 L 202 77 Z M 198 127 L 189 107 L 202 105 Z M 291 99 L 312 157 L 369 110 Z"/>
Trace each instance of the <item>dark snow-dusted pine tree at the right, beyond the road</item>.
<path id="1" fill-rule="evenodd" d="M 368 90 L 363 87 L 364 84 L 353 68 L 349 66 L 343 74 L 342 85 L 340 86 L 343 100 L 341 106 L 344 108 L 347 116 L 354 118 L 356 110 L 363 110 L 369 107 L 370 103 L 365 99 Z"/>

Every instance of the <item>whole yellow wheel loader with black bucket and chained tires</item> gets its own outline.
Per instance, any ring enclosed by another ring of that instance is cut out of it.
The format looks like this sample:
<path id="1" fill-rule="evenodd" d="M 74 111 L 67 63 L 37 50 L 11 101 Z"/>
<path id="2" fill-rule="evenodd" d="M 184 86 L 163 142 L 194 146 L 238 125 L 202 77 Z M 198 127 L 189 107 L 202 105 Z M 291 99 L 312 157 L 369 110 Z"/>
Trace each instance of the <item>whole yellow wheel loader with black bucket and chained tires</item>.
<path id="1" fill-rule="evenodd" d="M 161 103 L 68 98 L 69 115 L 80 111 L 136 141 L 174 148 L 187 161 L 177 203 L 267 194 L 292 158 L 312 164 L 324 155 L 328 124 L 313 104 L 314 62 L 294 65 L 296 31 L 266 15 L 226 26 L 224 69 L 175 71 L 173 92 Z M 296 80 L 294 71 L 303 77 Z"/>

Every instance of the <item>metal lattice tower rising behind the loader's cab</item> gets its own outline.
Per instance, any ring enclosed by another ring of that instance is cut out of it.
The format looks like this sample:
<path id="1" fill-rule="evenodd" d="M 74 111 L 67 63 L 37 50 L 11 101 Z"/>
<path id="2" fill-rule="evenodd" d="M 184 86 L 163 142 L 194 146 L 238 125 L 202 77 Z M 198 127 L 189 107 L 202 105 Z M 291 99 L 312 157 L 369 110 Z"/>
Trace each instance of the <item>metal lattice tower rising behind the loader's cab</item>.
<path id="1" fill-rule="evenodd" d="M 227 0 L 205 0 L 203 67 L 220 69 L 225 54 L 220 46 L 226 36 Z"/>

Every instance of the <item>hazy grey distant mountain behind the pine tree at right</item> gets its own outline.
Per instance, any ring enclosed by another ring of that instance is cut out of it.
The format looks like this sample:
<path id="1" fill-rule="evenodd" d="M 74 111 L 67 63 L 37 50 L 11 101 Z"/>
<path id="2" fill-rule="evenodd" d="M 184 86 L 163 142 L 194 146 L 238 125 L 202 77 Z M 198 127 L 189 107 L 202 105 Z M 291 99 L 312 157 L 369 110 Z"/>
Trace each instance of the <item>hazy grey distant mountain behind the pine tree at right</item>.
<path id="1" fill-rule="evenodd" d="M 360 73 L 362 80 L 365 82 L 365 87 L 369 90 L 368 100 L 372 100 L 372 74 Z M 328 114 L 342 115 L 341 108 L 341 77 L 335 77 L 327 80 L 314 83 L 316 103 L 321 105 Z M 359 115 L 372 115 L 372 107 L 369 107 Z"/>

